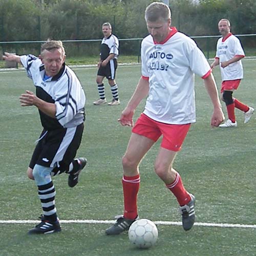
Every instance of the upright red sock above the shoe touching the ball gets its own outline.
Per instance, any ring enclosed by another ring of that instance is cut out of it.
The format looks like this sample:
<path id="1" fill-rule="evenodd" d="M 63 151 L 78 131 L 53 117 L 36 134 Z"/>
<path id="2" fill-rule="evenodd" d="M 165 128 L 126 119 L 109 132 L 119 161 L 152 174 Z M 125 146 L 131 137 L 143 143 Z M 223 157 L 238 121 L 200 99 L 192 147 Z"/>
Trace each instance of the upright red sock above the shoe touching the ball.
<path id="1" fill-rule="evenodd" d="M 124 198 L 124 214 L 126 219 L 133 220 L 138 215 L 137 195 L 140 187 L 140 175 L 133 177 L 123 176 L 123 198 Z"/>

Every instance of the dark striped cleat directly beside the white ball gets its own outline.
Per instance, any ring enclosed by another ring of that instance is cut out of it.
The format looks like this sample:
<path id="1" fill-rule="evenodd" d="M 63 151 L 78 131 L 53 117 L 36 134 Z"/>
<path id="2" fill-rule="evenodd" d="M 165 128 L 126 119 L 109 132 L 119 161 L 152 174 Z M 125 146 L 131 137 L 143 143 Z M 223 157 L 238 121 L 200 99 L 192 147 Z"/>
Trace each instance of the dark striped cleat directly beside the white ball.
<path id="1" fill-rule="evenodd" d="M 117 219 L 116 223 L 106 229 L 106 234 L 120 234 L 125 230 L 129 230 L 130 226 L 139 219 L 139 216 L 136 217 L 134 220 L 125 219 L 123 215 L 118 215 L 115 217 Z"/>

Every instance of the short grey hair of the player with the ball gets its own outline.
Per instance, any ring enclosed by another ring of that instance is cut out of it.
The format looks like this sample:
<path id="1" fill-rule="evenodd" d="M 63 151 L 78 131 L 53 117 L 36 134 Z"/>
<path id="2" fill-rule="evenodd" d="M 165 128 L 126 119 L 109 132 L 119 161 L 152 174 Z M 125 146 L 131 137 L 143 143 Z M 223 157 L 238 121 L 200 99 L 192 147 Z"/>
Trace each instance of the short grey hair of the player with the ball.
<path id="1" fill-rule="evenodd" d="M 167 21 L 171 17 L 170 8 L 161 2 L 154 2 L 145 10 L 146 22 L 156 22 L 158 19 Z"/>

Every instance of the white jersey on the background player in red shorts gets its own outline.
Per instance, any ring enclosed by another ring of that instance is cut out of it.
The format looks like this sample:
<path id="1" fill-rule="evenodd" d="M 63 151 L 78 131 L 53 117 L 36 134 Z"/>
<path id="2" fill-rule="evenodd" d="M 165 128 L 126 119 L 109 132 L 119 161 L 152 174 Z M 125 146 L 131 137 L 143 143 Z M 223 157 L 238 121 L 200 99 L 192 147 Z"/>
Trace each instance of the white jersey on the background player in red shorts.
<path id="1" fill-rule="evenodd" d="M 223 81 L 242 79 L 244 76 L 241 59 L 222 68 L 221 62 L 227 61 L 234 56 L 245 56 L 240 40 L 229 33 L 225 38 L 217 41 L 216 58 L 220 61 L 221 78 Z"/>

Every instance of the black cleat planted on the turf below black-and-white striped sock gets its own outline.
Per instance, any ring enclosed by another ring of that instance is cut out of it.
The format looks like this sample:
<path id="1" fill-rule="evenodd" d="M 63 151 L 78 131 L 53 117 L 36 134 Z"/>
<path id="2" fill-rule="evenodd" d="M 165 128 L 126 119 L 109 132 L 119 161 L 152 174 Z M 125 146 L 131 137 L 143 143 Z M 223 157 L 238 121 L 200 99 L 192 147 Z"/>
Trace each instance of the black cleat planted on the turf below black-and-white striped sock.
<path id="1" fill-rule="evenodd" d="M 48 222 L 45 220 L 44 215 L 41 215 L 41 222 L 34 228 L 29 230 L 29 234 L 49 234 L 61 231 L 59 221 Z"/>

